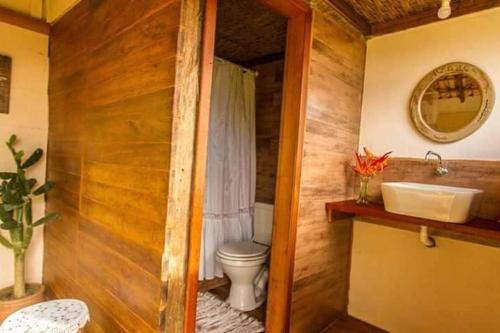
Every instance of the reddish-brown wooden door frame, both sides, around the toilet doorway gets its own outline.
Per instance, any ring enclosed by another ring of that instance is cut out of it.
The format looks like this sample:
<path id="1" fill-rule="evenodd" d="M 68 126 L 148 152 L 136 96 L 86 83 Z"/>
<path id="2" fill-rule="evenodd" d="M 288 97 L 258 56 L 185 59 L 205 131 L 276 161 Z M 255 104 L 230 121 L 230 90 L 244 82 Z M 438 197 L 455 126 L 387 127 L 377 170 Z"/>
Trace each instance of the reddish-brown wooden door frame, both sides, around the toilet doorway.
<path id="1" fill-rule="evenodd" d="M 269 275 L 266 332 L 288 332 L 299 210 L 302 147 L 311 49 L 312 11 L 303 0 L 256 0 L 287 17 L 272 267 Z M 197 110 L 194 167 L 191 179 L 191 221 L 187 263 L 184 332 L 195 331 L 198 268 L 202 233 L 205 171 L 207 160 L 210 96 L 214 61 L 217 0 L 205 0 L 201 41 L 200 88 Z"/>

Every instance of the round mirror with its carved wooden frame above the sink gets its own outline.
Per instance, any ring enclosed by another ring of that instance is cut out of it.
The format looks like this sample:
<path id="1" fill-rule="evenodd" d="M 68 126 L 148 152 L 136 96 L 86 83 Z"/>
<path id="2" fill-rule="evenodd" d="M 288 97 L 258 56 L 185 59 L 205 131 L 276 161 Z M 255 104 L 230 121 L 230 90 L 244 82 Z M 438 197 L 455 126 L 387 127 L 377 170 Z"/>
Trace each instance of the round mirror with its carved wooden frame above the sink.
<path id="1" fill-rule="evenodd" d="M 476 131 L 494 104 L 493 86 L 479 68 L 451 63 L 427 74 L 410 101 L 417 129 L 434 141 L 453 142 Z"/>

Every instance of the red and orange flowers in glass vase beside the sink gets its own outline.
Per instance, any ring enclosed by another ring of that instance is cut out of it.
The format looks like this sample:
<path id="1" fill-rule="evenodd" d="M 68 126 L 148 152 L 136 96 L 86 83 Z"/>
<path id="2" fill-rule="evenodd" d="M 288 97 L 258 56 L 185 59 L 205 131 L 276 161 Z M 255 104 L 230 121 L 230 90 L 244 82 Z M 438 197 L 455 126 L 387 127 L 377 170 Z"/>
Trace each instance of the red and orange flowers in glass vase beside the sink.
<path id="1" fill-rule="evenodd" d="M 366 147 L 363 148 L 364 155 L 354 152 L 356 165 L 353 170 L 360 176 L 358 204 L 368 204 L 368 182 L 371 178 L 383 172 L 388 165 L 389 155 L 387 152 L 382 156 L 376 156 Z"/>

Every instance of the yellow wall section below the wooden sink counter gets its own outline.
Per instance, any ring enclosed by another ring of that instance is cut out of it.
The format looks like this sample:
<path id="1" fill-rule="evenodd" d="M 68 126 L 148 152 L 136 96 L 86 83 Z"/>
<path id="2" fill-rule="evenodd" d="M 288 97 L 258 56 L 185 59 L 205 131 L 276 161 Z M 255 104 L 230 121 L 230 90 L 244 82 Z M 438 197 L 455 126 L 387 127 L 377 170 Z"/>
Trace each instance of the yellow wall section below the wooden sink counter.
<path id="1" fill-rule="evenodd" d="M 497 333 L 500 249 L 356 221 L 349 314 L 395 333 Z"/>

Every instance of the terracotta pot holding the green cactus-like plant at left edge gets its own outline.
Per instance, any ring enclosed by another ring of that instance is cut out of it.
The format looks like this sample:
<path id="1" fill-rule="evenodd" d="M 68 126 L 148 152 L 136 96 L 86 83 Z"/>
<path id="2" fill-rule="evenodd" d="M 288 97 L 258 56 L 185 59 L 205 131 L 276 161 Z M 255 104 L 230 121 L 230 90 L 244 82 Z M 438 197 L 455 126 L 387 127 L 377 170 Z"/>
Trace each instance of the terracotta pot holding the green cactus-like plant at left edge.
<path id="1" fill-rule="evenodd" d="M 8 295 L 12 294 L 12 288 L 7 287 L 0 290 L 0 324 L 17 310 L 45 301 L 45 287 L 42 284 L 27 284 L 28 295 L 19 299 L 8 299 Z"/>

